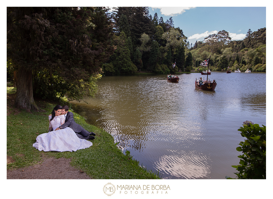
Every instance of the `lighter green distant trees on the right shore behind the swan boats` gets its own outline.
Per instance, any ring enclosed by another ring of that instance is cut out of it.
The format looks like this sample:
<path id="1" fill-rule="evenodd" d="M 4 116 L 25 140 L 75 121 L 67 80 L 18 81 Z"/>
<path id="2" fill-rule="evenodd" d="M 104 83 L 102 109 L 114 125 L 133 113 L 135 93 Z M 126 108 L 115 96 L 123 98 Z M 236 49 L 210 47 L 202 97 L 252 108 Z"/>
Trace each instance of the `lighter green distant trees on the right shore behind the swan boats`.
<path id="1" fill-rule="evenodd" d="M 246 38 L 239 41 L 231 41 L 226 32 L 223 42 L 222 33 L 223 31 L 220 31 L 210 35 L 203 42 L 196 41 L 194 46 L 190 47 L 194 70 L 203 70 L 199 64 L 211 55 L 211 70 L 266 71 L 266 28 L 254 32 L 249 29 Z"/>

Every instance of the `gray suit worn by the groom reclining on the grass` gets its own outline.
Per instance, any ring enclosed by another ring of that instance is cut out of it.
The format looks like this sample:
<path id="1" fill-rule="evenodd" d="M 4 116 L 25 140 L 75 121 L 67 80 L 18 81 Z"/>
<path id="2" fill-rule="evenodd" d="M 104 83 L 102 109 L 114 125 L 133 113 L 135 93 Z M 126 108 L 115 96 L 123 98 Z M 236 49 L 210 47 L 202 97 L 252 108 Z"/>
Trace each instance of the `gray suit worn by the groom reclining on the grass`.
<path id="1" fill-rule="evenodd" d="M 66 127 L 71 128 L 80 139 L 88 139 L 89 131 L 74 121 L 72 112 L 67 112 L 65 123 L 61 126 L 63 129 Z"/>

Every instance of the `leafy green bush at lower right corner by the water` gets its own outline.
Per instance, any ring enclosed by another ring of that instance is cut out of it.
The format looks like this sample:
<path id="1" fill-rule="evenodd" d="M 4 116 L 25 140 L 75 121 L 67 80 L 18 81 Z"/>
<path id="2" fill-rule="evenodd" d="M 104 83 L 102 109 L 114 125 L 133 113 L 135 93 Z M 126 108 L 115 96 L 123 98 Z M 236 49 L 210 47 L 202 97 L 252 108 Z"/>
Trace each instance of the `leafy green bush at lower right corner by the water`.
<path id="1" fill-rule="evenodd" d="M 243 123 L 238 131 L 247 139 L 236 148 L 243 153 L 238 156 L 240 165 L 232 167 L 239 171 L 235 173 L 238 179 L 266 179 L 266 127 L 260 127 L 251 121 Z M 228 176 L 226 178 L 232 179 Z"/>

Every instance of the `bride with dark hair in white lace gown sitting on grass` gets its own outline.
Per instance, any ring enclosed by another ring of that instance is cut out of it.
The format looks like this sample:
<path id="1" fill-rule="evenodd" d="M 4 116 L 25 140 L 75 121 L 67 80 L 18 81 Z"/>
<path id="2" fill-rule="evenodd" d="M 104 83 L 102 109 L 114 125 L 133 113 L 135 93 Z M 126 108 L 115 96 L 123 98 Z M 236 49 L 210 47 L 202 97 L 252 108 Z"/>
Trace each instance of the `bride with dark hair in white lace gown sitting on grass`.
<path id="1" fill-rule="evenodd" d="M 64 115 L 60 115 L 62 106 L 54 107 L 52 114 L 48 116 L 49 132 L 38 135 L 33 144 L 39 151 L 77 151 L 78 149 L 89 148 L 92 142 L 86 139 L 79 139 L 76 133 L 66 127 L 65 129 L 55 130 L 65 123 Z M 52 131 L 51 131 L 52 130 Z"/>

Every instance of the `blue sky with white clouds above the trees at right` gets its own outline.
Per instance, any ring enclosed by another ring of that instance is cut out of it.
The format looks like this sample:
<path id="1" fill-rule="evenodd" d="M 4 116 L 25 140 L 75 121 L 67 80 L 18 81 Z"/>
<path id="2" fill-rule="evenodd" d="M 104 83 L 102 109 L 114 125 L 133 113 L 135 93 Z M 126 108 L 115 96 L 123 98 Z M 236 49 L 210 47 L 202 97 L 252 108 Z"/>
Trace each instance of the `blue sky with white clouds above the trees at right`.
<path id="1" fill-rule="evenodd" d="M 149 7 L 149 12 L 165 22 L 172 17 L 192 44 L 222 30 L 232 40 L 243 40 L 248 29 L 266 28 L 266 7 Z"/>

